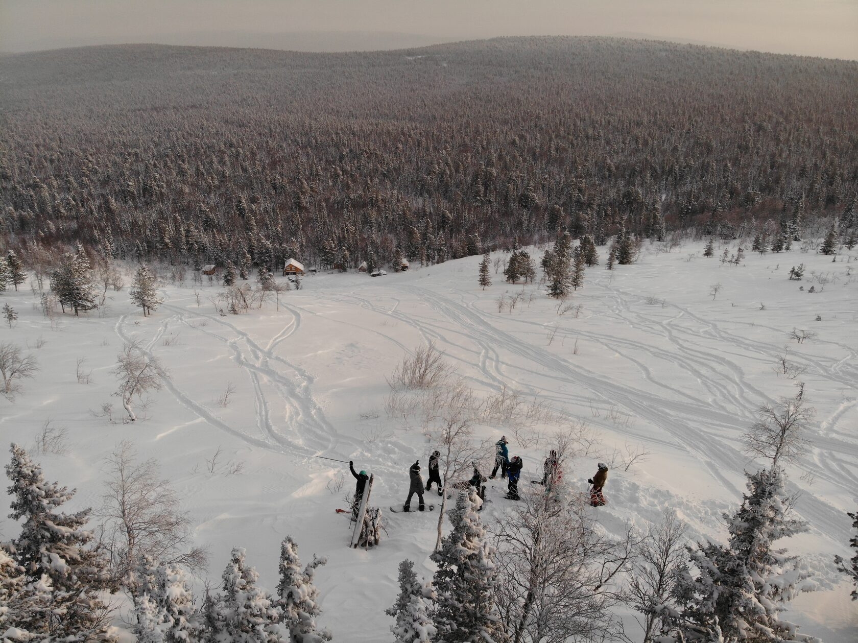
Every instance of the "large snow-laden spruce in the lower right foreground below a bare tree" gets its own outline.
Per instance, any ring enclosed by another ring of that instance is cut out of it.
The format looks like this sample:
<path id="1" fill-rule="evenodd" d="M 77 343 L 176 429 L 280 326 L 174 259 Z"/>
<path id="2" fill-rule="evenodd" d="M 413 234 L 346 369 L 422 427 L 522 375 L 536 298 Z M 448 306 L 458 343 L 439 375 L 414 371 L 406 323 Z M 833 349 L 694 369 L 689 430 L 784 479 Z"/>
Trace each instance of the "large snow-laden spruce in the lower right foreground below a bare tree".
<path id="1" fill-rule="evenodd" d="M 797 557 L 774 549 L 773 543 L 807 531 L 807 525 L 789 517 L 779 467 L 746 476 L 750 494 L 733 516 L 724 514 L 728 545 L 688 548 L 699 575 L 692 577 L 689 567 L 680 573 L 675 589 L 680 616 L 668 618 L 686 641 L 714 640 L 718 628 L 724 640 L 801 640 L 797 626 L 781 621 L 780 613 L 800 591 L 812 589 L 805 584 L 810 574 Z"/>

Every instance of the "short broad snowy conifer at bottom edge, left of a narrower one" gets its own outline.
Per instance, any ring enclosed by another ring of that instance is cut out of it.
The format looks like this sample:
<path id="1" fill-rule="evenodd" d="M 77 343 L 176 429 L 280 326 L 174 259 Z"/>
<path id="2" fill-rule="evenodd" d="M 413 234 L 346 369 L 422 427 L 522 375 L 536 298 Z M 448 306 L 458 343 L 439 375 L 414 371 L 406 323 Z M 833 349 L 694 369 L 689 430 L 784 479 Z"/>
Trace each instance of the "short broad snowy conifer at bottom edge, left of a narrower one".
<path id="1" fill-rule="evenodd" d="M 268 591 L 257 587 L 259 574 L 245 565 L 245 549 L 237 547 L 224 569 L 223 593 L 208 604 L 208 640 L 220 643 L 288 643 Z"/>

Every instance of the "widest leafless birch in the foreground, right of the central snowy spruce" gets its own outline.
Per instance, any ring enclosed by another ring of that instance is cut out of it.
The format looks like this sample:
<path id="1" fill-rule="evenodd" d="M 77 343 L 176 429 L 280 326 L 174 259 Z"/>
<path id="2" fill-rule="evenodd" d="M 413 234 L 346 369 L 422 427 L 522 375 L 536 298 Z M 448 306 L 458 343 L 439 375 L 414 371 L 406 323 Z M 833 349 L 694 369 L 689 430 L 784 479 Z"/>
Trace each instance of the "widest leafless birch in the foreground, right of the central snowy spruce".
<path id="1" fill-rule="evenodd" d="M 615 638 L 611 608 L 623 596 L 619 573 L 636 544 L 631 529 L 612 538 L 597 528 L 583 496 L 560 482 L 527 489 L 494 527 L 498 543 L 496 603 L 513 643 Z"/>

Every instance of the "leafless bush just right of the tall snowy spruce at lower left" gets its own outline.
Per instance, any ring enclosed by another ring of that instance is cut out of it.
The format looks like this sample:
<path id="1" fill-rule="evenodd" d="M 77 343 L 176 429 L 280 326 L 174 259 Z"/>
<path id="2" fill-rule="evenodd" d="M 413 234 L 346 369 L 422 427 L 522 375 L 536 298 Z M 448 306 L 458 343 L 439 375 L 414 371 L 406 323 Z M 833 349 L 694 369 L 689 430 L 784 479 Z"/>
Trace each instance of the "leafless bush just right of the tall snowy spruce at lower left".
<path id="1" fill-rule="evenodd" d="M 193 523 L 179 509 L 167 480 L 161 480 L 154 458 L 136 461 L 131 442 L 120 442 L 106 459 L 110 478 L 99 516 L 102 542 L 110 553 L 116 578 L 134 593 L 136 561 L 142 555 L 156 561 L 205 568 L 208 553 L 193 542 Z"/>

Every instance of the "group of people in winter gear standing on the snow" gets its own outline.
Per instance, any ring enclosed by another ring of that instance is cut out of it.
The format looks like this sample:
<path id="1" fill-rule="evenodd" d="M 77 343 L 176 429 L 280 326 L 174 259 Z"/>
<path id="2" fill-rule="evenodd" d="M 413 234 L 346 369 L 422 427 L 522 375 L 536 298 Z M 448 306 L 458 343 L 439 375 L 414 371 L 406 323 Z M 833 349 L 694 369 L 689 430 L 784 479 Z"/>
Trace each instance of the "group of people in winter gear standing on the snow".
<path id="1" fill-rule="evenodd" d="M 500 440 L 495 443 L 494 468 L 492 469 L 492 475 L 488 476 L 488 479 L 493 480 L 498 476 L 498 470 L 500 470 L 501 479 L 507 479 L 507 492 L 505 497 L 510 500 L 520 500 L 521 497 L 518 494 L 518 481 L 521 478 L 524 463 L 522 458 L 519 456 L 513 456 L 510 458 L 509 448 L 507 447 L 508 444 L 509 440 L 506 439 L 505 435 L 502 435 Z M 435 484 L 438 489 L 438 495 L 444 493 L 444 482 L 441 481 L 440 472 L 438 470 L 440 459 L 441 452 L 439 451 L 432 452 L 432 455 L 429 456 L 429 480 L 426 482 L 425 488 L 426 491 L 431 491 L 432 484 Z M 474 462 L 473 465 L 474 474 L 468 481 L 457 482 L 456 488 L 474 487 L 477 494 L 480 496 L 480 499 L 486 500 L 486 476 L 480 472 L 480 467 L 477 462 Z M 348 463 L 348 468 L 351 470 L 352 475 L 357 479 L 357 484 L 354 488 L 353 504 L 353 514 L 356 515 L 358 507 L 360 506 L 360 500 L 363 498 L 366 481 L 369 479 L 369 476 L 367 476 L 366 471 L 360 471 L 360 473 L 356 472 L 354 470 L 354 463 L 351 461 Z M 402 511 L 411 511 L 411 499 L 414 498 L 414 494 L 416 494 L 420 503 L 418 505 L 418 509 L 422 512 L 426 509 L 426 503 L 423 499 L 424 487 L 423 476 L 420 475 L 420 460 L 417 460 L 408 468 L 408 476 L 410 478 L 408 497 L 405 500 L 405 504 L 402 506 Z M 562 476 L 563 473 L 559 470 L 557 451 L 552 449 L 548 454 L 548 457 L 545 458 L 545 462 L 542 463 L 542 480 L 539 484 L 550 489 L 553 485 L 559 482 Z M 590 488 L 590 504 L 594 507 L 604 505 L 605 496 L 602 494 L 602 488 L 604 488 L 605 482 L 607 482 L 607 464 L 600 462 L 599 470 L 596 471 L 595 476 L 589 478 L 587 482 L 592 485 Z"/>

